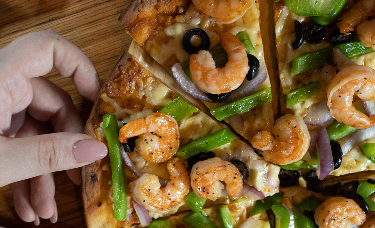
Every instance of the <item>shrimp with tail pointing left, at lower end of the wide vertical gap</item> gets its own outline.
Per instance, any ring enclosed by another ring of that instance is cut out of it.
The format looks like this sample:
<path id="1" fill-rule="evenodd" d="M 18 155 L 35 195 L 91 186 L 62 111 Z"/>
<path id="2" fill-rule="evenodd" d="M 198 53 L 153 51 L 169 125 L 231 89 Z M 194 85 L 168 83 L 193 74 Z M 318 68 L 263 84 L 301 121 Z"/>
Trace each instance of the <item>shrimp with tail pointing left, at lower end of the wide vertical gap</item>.
<path id="1" fill-rule="evenodd" d="M 305 155 L 310 144 L 310 134 L 301 117 L 286 114 L 276 120 L 271 132 L 258 132 L 251 139 L 251 144 L 263 151 L 265 160 L 287 165 Z"/>

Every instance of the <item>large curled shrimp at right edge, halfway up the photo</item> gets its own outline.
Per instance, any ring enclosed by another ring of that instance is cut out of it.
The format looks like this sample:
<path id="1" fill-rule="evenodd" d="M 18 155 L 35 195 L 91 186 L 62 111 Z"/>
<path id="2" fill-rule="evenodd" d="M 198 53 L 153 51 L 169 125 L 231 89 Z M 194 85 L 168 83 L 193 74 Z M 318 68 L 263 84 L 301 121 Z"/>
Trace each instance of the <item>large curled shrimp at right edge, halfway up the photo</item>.
<path id="1" fill-rule="evenodd" d="M 339 68 L 328 87 L 327 107 L 330 114 L 340 123 L 357 129 L 375 124 L 375 115 L 368 117 L 353 106 L 353 96 L 372 101 L 375 99 L 375 71 L 362 65 Z"/>

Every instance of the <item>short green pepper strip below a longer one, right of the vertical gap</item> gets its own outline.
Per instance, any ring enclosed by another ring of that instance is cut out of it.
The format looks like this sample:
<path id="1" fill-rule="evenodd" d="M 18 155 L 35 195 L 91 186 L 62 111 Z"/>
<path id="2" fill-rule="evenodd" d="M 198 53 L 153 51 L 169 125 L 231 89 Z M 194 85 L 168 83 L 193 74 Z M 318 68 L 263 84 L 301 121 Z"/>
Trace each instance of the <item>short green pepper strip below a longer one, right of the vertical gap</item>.
<path id="1" fill-rule="evenodd" d="M 316 81 L 309 83 L 300 88 L 294 89 L 291 92 L 285 94 L 285 102 L 287 107 L 291 107 L 295 104 L 305 101 L 308 98 L 311 98 L 315 94 L 320 92 L 320 82 Z"/>

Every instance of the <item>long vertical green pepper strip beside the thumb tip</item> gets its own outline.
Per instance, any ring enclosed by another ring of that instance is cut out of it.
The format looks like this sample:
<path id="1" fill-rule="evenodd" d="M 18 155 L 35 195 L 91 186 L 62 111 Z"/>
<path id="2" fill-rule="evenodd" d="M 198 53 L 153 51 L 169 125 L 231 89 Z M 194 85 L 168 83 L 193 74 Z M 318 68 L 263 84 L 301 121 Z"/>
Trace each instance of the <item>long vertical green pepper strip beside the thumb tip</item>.
<path id="1" fill-rule="evenodd" d="M 124 171 L 124 160 L 120 151 L 120 141 L 118 141 L 118 123 L 115 114 L 103 116 L 103 127 L 107 136 L 114 200 L 114 217 L 123 221 L 126 219 L 126 176 Z"/>

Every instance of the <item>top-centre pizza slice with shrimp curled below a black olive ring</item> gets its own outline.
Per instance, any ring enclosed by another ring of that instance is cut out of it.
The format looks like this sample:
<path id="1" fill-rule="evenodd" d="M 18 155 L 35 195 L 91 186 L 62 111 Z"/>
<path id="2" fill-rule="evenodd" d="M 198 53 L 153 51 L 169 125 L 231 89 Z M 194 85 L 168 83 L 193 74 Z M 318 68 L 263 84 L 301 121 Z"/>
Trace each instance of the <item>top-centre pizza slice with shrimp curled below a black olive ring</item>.
<path id="1" fill-rule="evenodd" d="M 133 0 L 119 21 L 185 92 L 250 140 L 273 124 L 259 15 L 257 0 Z"/>

